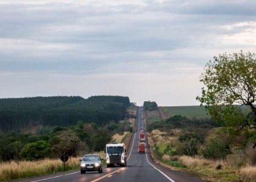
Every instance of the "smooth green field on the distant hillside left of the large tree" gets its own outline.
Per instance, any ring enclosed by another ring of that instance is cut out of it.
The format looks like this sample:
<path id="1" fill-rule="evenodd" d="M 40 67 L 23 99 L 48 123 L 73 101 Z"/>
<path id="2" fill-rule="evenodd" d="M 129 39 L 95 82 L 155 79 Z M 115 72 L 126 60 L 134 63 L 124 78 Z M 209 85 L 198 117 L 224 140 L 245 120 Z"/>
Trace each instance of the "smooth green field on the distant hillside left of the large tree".
<path id="1" fill-rule="evenodd" d="M 174 115 L 182 115 L 189 119 L 196 118 L 209 118 L 210 115 L 207 114 L 204 107 L 200 106 L 171 106 L 171 107 L 162 107 L 162 111 L 165 115 L 170 114 Z"/>

